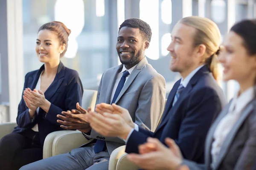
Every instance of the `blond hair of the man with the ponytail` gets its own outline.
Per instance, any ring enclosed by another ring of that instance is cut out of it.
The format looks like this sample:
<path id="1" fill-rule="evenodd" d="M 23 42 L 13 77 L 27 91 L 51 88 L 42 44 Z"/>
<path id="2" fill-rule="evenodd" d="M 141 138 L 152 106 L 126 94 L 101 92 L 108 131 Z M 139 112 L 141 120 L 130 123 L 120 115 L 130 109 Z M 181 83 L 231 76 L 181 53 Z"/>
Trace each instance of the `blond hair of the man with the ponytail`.
<path id="1" fill-rule="evenodd" d="M 204 63 L 211 71 L 213 77 L 218 81 L 220 79 L 220 71 L 218 67 L 217 55 L 221 42 L 221 33 L 218 26 L 208 18 L 197 16 L 182 18 L 179 23 L 196 29 L 194 45 L 198 46 L 203 44 L 206 46 Z"/>

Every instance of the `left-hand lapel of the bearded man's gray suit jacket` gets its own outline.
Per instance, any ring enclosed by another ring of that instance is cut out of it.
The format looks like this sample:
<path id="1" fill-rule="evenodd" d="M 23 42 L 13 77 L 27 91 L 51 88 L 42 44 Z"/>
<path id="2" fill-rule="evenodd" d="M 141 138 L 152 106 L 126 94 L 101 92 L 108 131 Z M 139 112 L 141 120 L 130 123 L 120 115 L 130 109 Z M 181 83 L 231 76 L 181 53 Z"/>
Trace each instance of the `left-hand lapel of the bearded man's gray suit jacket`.
<path id="1" fill-rule="evenodd" d="M 111 76 L 109 79 L 110 83 L 108 85 L 105 103 L 109 103 L 109 104 L 111 103 L 111 95 L 113 92 L 114 85 L 116 83 L 116 77 L 117 77 L 117 74 L 120 72 L 120 70 L 122 70 L 122 67 L 123 67 L 123 65 L 119 65 L 119 67 L 115 67 L 113 69 L 113 76 Z"/>

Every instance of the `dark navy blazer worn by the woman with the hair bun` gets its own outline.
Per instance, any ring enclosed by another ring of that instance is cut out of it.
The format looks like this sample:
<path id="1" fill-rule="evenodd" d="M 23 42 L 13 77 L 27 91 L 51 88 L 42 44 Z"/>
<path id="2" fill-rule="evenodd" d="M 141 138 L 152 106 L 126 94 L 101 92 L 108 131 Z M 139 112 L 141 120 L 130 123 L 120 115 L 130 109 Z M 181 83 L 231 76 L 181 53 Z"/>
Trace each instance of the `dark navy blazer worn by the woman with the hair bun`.
<path id="1" fill-rule="evenodd" d="M 27 73 L 23 90 L 25 90 L 25 88 L 33 90 L 43 70 L 44 65 L 42 65 L 39 70 Z M 23 97 L 21 97 L 16 119 L 18 126 L 13 130 L 13 133 L 21 133 L 31 129 L 38 123 L 39 137 L 42 146 L 44 145 L 44 139 L 49 133 L 64 130 L 57 122 L 57 114 L 76 108 L 77 102 L 81 103 L 83 87 L 78 72 L 65 67 L 62 62 L 60 62 L 57 74 L 44 95 L 45 98 L 51 102 L 49 111 L 46 113 L 43 109 L 39 108 L 39 113 L 35 113 L 35 119 L 33 121 L 29 118 L 29 108 L 26 106 Z"/>

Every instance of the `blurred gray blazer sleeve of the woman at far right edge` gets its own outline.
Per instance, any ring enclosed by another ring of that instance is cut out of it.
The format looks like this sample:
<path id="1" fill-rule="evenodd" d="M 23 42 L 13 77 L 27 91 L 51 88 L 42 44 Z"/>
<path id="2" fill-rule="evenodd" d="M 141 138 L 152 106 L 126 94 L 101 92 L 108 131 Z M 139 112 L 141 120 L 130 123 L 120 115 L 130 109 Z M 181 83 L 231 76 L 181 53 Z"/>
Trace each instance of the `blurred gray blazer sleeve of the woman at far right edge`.
<path id="1" fill-rule="evenodd" d="M 255 105 L 254 105 L 255 108 Z M 253 165 L 256 163 L 256 111 L 248 116 L 249 138 L 244 144 L 243 150 L 236 161 L 234 170 L 253 170 Z"/>

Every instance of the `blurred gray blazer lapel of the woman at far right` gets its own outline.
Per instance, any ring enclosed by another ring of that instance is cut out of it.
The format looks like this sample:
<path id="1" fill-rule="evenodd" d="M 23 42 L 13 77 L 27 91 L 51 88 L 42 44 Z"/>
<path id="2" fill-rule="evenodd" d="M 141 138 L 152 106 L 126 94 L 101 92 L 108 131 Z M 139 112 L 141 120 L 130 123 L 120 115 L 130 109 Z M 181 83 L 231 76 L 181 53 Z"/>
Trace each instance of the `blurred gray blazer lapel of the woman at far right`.
<path id="1" fill-rule="evenodd" d="M 242 111 L 241 116 L 235 123 L 235 125 L 230 130 L 230 133 L 228 133 L 226 139 L 224 140 L 224 143 L 222 144 L 221 151 L 218 156 L 218 161 L 216 162 L 216 169 L 220 165 L 221 161 L 223 160 L 224 156 L 227 153 L 227 150 L 229 149 L 234 137 L 236 136 L 236 133 L 238 132 L 239 128 L 241 127 L 244 120 L 247 118 L 249 113 L 253 110 L 253 102 L 250 102 Z"/>

